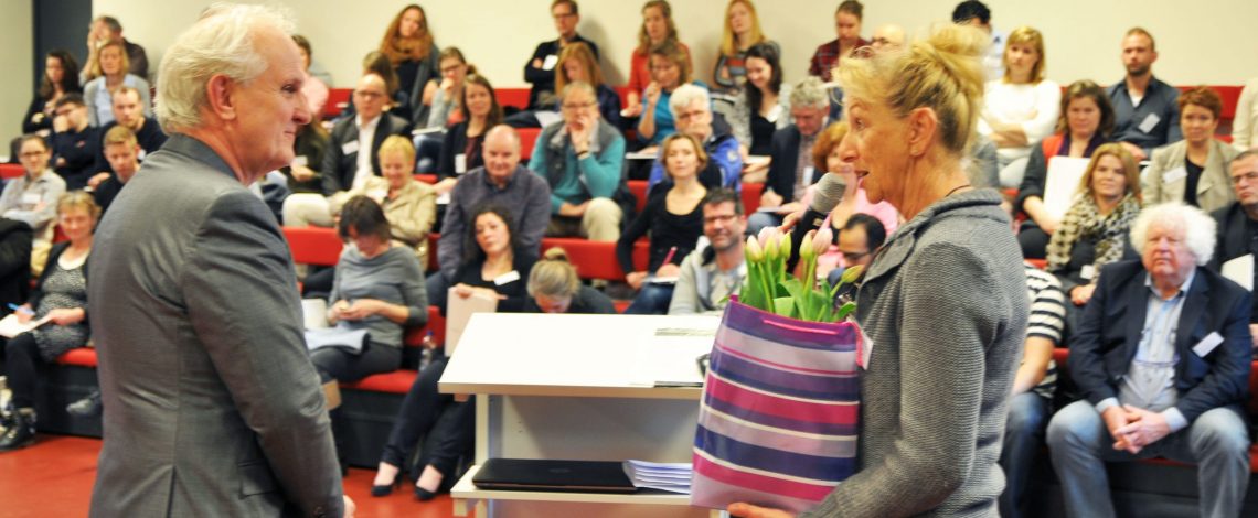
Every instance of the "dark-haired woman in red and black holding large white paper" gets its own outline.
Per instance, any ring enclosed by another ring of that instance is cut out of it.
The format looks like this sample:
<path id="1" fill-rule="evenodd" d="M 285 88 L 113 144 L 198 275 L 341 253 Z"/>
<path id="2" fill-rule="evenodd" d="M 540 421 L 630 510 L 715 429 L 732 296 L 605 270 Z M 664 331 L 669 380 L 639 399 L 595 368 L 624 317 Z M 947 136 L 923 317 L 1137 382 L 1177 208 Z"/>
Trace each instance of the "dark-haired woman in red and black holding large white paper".
<path id="1" fill-rule="evenodd" d="M 1091 80 L 1077 80 L 1066 88 L 1060 113 L 1057 132 L 1032 147 L 1027 174 L 1014 200 L 1014 209 L 1028 216 L 1018 231 L 1018 243 L 1027 259 L 1043 258 L 1049 236 L 1062 224 L 1044 206 L 1048 162 L 1058 156 L 1089 158 L 1113 131 L 1113 107 L 1105 91 Z"/>

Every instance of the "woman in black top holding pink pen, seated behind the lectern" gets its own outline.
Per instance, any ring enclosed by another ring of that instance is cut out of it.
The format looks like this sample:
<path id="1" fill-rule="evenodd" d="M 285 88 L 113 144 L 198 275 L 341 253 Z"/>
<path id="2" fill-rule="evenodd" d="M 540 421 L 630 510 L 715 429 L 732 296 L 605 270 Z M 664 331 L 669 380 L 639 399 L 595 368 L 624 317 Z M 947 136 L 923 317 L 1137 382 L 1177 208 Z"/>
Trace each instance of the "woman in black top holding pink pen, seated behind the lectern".
<path id="1" fill-rule="evenodd" d="M 664 140 L 664 172 L 672 187 L 652 192 L 647 207 L 620 235 L 616 259 L 625 280 L 638 295 L 625 308 L 626 314 L 664 314 L 673 297 L 673 283 L 681 273 L 678 265 L 694 250 L 703 235 L 703 196 L 707 189 L 698 174 L 707 163 L 707 153 L 698 140 L 686 133 Z M 633 248 L 638 239 L 649 234 L 647 269 L 638 270 L 633 263 Z M 658 279 L 658 280 L 657 280 Z"/>

